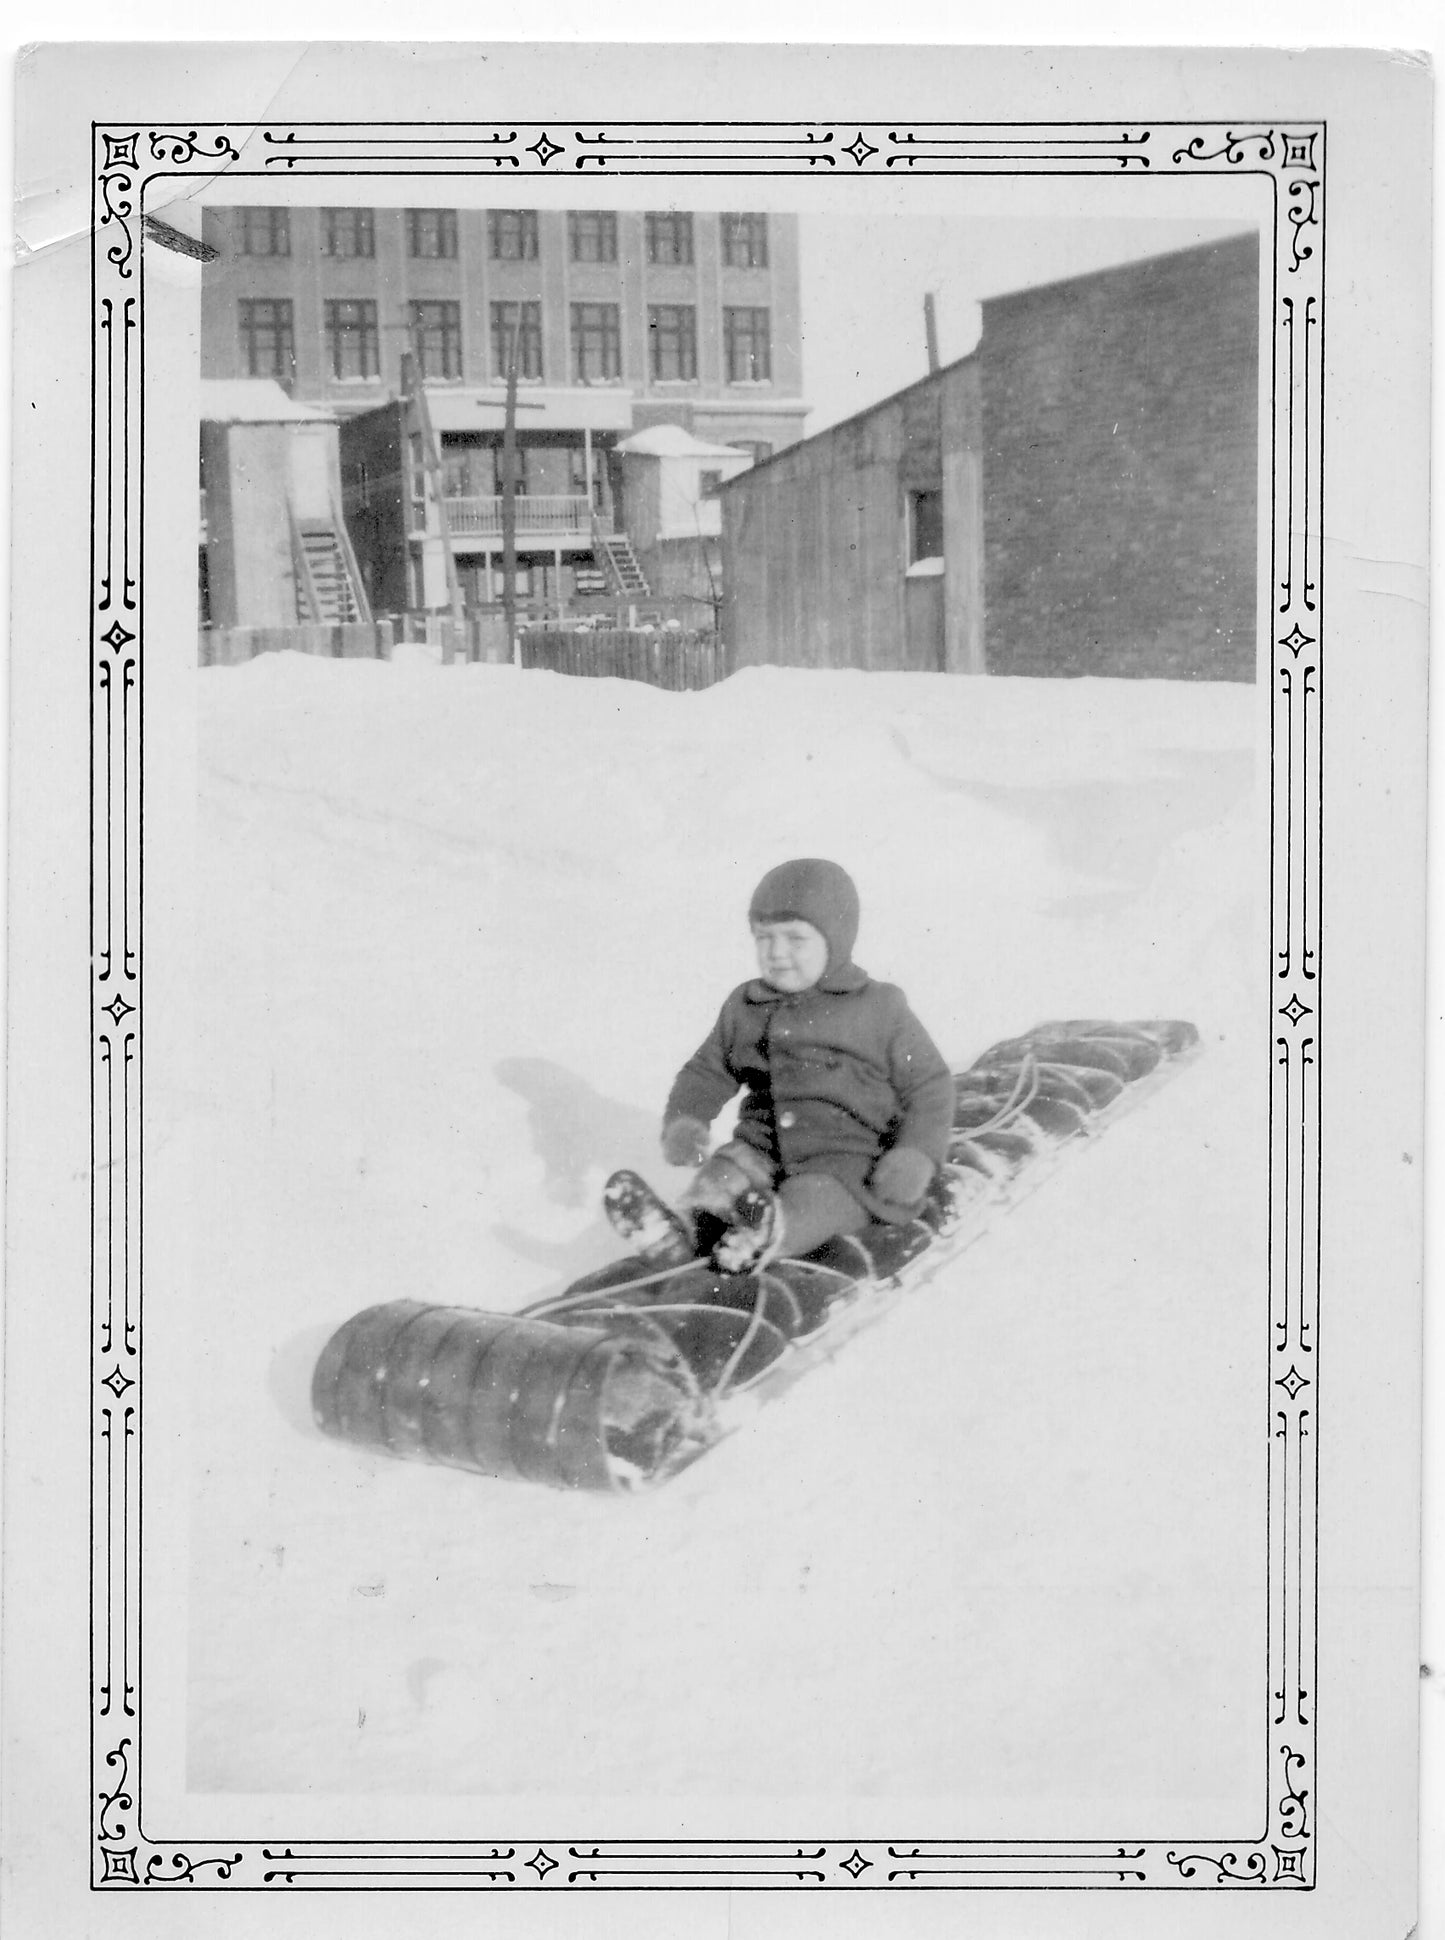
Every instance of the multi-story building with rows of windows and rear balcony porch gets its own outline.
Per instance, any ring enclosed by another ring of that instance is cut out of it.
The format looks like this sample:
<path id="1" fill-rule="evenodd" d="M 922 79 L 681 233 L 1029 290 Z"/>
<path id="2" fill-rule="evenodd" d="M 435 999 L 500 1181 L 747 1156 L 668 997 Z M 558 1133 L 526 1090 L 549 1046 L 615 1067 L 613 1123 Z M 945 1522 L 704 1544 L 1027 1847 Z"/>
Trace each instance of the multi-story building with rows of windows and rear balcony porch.
<path id="1" fill-rule="evenodd" d="M 334 411 L 343 473 L 347 446 L 376 444 L 347 419 L 394 409 L 413 359 L 440 466 L 407 537 L 413 603 L 440 603 L 442 547 L 471 598 L 495 592 L 512 361 L 518 557 L 559 592 L 564 563 L 625 532 L 630 433 L 677 425 L 753 460 L 803 436 L 793 215 L 213 208 L 204 239 L 202 376 L 273 378 Z M 411 520 L 415 483 L 413 466 L 396 495 Z"/>

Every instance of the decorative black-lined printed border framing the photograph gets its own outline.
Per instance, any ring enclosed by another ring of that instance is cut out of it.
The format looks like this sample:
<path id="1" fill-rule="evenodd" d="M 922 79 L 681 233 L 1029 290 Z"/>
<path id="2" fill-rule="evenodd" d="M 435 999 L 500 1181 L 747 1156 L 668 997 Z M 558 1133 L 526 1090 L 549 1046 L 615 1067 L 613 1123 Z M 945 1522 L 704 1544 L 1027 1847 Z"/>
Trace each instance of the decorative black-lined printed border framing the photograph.
<path id="1" fill-rule="evenodd" d="M 188 1841 L 142 1829 L 144 308 L 153 182 L 359 175 L 1257 175 L 1270 518 L 1268 1765 L 1257 1829 L 1170 1841 Z M 95 128 L 91 390 L 91 1769 L 95 1888 L 1261 1890 L 1315 1882 L 1325 128 L 305 122 Z"/>

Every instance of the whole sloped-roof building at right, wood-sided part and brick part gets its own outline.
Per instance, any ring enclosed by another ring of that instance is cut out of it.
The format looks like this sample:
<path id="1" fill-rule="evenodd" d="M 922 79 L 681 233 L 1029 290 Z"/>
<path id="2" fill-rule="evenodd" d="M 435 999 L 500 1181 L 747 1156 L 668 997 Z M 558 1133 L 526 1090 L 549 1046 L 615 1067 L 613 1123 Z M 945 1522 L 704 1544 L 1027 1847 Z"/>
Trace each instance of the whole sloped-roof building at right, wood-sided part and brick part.
<path id="1" fill-rule="evenodd" d="M 735 665 L 1255 677 L 1255 235 L 983 303 L 979 347 L 723 481 Z"/>

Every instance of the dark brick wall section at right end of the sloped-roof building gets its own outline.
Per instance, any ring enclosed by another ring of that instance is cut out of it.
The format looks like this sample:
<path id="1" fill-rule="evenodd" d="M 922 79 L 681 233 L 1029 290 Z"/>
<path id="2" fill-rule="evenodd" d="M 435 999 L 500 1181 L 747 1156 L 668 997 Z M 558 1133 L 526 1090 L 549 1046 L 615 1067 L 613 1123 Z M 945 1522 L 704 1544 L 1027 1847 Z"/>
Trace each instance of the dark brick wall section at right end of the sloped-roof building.
<path id="1" fill-rule="evenodd" d="M 983 305 L 989 673 L 1255 677 L 1259 246 Z"/>

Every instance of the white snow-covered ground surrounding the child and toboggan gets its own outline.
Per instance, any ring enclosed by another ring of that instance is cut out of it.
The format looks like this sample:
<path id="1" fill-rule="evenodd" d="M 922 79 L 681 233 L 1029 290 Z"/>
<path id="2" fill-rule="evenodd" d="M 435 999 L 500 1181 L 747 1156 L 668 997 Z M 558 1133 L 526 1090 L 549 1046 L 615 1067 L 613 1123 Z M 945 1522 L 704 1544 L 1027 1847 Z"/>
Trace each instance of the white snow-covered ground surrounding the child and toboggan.
<path id="1" fill-rule="evenodd" d="M 196 1791 L 1257 1820 L 1255 722 L 1173 683 L 200 675 Z M 359 1308 L 516 1308 L 615 1255 L 609 1170 L 681 1183 L 667 1084 L 797 854 L 853 873 L 859 962 L 960 1065 L 1084 1015 L 1204 1055 L 656 1496 L 324 1439 Z"/>

